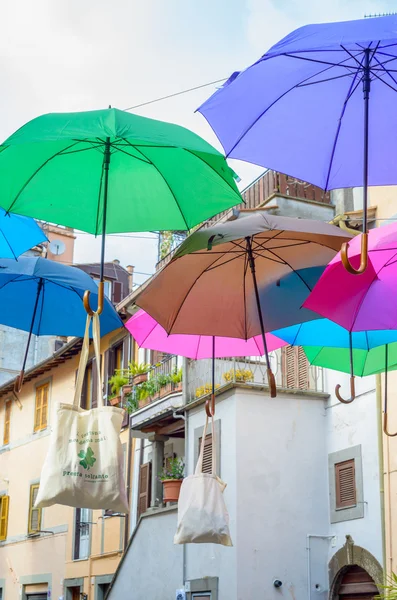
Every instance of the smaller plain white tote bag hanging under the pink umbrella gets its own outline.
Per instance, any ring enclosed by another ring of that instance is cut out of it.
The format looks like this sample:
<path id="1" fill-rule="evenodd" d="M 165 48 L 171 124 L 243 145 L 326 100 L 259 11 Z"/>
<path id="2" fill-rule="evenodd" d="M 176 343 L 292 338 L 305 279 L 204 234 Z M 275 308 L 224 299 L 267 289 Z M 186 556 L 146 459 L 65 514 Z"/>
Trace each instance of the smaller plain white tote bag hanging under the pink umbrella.
<path id="1" fill-rule="evenodd" d="M 203 473 L 204 444 L 208 417 L 205 419 L 200 455 L 194 475 L 182 482 L 178 501 L 178 527 L 174 544 L 222 544 L 233 546 L 229 532 L 229 514 L 223 492 L 226 488 L 216 471 L 216 440 L 212 430 L 212 474 Z"/>

